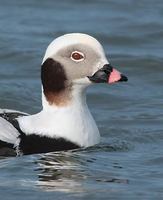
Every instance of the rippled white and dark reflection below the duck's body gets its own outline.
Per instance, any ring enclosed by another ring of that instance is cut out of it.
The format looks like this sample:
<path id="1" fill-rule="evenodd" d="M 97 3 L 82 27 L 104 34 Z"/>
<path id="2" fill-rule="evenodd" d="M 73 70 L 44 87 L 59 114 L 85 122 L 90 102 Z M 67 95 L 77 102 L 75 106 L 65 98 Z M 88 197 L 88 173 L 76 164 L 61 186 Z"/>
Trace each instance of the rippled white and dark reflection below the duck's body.
<path id="1" fill-rule="evenodd" d="M 82 160 L 72 152 L 49 153 L 37 160 L 38 183 L 46 191 L 82 192 Z"/>

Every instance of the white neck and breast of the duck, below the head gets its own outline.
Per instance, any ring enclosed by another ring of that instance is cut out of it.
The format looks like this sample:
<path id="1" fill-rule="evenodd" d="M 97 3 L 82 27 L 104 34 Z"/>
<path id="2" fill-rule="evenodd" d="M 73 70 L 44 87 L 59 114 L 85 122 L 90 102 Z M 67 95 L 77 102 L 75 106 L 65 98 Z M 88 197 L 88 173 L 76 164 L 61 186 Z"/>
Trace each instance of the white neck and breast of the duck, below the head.
<path id="1" fill-rule="evenodd" d="M 72 101 L 62 107 L 50 105 L 43 94 L 43 110 L 18 119 L 22 131 L 53 138 L 63 137 L 84 147 L 98 143 L 100 135 L 86 103 L 86 88 L 77 85 L 72 91 Z"/>

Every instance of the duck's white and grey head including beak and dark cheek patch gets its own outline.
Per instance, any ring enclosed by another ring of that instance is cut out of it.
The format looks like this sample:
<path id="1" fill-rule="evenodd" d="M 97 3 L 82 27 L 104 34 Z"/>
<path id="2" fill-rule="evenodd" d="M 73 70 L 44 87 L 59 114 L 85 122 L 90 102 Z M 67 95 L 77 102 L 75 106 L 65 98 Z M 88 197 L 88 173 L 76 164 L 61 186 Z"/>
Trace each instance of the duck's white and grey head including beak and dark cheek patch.
<path id="1" fill-rule="evenodd" d="M 111 67 L 101 44 L 82 33 L 63 35 L 48 46 L 42 62 L 41 79 L 43 107 L 47 103 L 66 106 L 75 90 L 83 91 L 92 83 L 127 80 Z"/>

